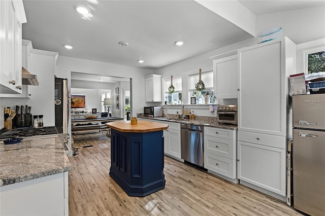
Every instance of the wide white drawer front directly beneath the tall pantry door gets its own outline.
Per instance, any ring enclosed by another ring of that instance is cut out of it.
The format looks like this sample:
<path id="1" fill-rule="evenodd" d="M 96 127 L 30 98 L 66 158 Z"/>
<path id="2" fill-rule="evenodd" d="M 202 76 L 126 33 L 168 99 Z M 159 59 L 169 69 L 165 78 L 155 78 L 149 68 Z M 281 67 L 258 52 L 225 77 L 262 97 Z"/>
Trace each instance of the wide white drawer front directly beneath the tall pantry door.
<path id="1" fill-rule="evenodd" d="M 238 141 L 250 142 L 279 149 L 286 149 L 286 139 L 284 136 L 238 131 Z"/>

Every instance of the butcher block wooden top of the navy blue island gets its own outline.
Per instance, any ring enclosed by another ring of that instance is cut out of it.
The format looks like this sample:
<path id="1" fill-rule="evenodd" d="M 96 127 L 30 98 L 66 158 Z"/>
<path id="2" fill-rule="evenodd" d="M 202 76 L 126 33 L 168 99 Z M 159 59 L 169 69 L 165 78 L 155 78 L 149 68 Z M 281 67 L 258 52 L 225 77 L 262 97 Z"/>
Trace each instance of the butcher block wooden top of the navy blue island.
<path id="1" fill-rule="evenodd" d="M 109 122 L 105 124 L 107 127 L 118 130 L 120 132 L 131 132 L 131 133 L 146 133 L 159 130 L 166 130 L 168 124 L 156 123 L 150 121 L 139 121 L 135 125 L 131 124 L 131 121 L 117 121 Z"/>

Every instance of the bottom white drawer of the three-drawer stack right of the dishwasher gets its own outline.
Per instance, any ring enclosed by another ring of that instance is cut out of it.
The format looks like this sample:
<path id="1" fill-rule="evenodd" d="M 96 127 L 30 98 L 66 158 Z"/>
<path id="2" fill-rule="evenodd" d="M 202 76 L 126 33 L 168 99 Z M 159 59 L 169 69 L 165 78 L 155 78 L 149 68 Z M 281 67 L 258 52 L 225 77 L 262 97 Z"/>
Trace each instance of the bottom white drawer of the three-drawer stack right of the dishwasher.
<path id="1" fill-rule="evenodd" d="M 219 173 L 226 177 L 236 178 L 236 168 L 234 160 L 224 158 L 211 153 L 204 156 L 204 168 Z"/>

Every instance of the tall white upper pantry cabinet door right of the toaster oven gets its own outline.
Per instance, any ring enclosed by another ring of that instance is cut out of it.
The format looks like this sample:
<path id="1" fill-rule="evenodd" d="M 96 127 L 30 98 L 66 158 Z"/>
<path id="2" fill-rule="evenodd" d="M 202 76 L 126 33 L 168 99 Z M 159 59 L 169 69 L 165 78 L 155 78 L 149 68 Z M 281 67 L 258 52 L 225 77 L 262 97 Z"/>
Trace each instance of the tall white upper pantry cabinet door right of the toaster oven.
<path id="1" fill-rule="evenodd" d="M 238 130 L 285 135 L 282 45 L 277 40 L 239 51 Z"/>

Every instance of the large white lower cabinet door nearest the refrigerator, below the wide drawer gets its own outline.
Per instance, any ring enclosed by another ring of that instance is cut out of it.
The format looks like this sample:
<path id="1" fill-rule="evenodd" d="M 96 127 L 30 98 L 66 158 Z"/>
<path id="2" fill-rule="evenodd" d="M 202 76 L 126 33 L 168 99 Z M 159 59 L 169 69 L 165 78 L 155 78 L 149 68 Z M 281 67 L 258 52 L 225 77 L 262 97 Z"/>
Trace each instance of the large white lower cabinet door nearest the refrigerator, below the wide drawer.
<path id="1" fill-rule="evenodd" d="M 238 141 L 238 173 L 242 181 L 286 195 L 286 154 L 277 149 Z"/>

